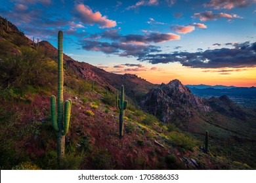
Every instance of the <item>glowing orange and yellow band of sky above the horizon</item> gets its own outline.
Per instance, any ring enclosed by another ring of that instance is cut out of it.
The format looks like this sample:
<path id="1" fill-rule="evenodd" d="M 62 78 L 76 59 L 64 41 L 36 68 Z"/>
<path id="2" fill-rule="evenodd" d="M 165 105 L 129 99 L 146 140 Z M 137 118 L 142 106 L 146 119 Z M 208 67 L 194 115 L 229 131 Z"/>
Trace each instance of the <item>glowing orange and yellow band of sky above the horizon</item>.
<path id="1" fill-rule="evenodd" d="M 154 70 L 151 70 L 152 67 Z M 154 84 L 168 83 L 170 80 L 181 80 L 182 84 L 207 84 L 225 86 L 256 86 L 256 67 L 253 68 L 221 68 L 198 69 L 183 67 L 180 63 L 146 64 L 141 70 L 125 71 L 145 78 Z M 124 69 L 106 69 L 106 71 L 123 71 Z M 123 73 L 120 73 L 123 74 Z"/>

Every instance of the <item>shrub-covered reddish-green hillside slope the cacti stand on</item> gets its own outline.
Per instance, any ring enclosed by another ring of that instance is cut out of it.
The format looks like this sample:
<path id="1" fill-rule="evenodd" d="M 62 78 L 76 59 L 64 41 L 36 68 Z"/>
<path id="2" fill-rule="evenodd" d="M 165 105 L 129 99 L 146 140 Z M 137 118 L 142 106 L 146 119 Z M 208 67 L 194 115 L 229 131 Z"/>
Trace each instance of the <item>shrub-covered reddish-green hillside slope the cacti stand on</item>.
<path id="1" fill-rule="evenodd" d="M 0 27 L 1 169 L 58 169 L 49 99 L 57 86 L 57 65 L 50 52 L 54 48 L 44 41 L 37 46 L 11 22 L 8 30 L 4 25 Z M 243 164 L 246 159 L 235 162 L 219 154 L 213 133 L 211 153 L 205 154 L 200 148 L 203 136 L 196 138 L 173 124 L 163 124 L 131 103 L 120 140 L 113 90 L 121 83 L 112 86 L 98 74 L 106 71 L 64 58 L 69 63 L 64 69 L 64 100 L 73 102 L 62 169 L 251 169 Z M 125 92 L 137 84 L 145 83 L 143 93 L 151 87 L 137 76 L 114 76 L 126 84 Z M 97 83 L 93 91 L 91 79 Z"/>

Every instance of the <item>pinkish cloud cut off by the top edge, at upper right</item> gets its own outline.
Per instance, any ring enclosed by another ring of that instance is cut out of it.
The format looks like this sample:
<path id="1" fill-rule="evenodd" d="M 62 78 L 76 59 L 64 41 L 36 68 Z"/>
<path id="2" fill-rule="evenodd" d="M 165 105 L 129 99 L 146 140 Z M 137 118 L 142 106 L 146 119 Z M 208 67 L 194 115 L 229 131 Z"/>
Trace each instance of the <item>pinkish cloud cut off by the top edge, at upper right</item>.
<path id="1" fill-rule="evenodd" d="M 212 7 L 215 9 L 232 9 L 234 7 L 244 8 L 255 3 L 255 0 L 211 0 L 208 3 L 205 3 L 205 7 Z"/>

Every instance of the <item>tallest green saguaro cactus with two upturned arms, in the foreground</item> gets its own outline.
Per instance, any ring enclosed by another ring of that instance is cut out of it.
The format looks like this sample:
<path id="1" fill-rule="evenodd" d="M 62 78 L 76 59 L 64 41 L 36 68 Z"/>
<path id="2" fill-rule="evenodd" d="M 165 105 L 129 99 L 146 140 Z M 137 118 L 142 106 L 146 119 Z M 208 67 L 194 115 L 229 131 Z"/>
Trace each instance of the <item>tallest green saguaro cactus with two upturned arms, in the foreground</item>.
<path id="1" fill-rule="evenodd" d="M 63 114 L 63 50 L 62 50 L 63 33 L 58 31 L 58 116 L 56 116 L 56 97 L 51 96 L 51 119 L 53 128 L 57 132 L 57 154 L 58 164 L 61 166 L 62 158 L 65 155 L 65 135 L 68 133 L 71 113 L 71 99 L 64 103 Z"/>

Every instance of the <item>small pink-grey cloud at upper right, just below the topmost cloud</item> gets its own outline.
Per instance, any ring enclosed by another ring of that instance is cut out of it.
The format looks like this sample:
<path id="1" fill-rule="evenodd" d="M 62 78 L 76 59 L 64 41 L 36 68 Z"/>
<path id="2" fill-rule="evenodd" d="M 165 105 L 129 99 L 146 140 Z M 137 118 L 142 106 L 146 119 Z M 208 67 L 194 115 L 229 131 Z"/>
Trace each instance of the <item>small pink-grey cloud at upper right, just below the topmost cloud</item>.
<path id="1" fill-rule="evenodd" d="M 228 20 L 232 20 L 232 18 L 238 18 L 238 15 L 227 14 L 227 13 L 219 13 L 213 14 L 212 11 L 198 12 L 194 14 L 194 18 L 199 18 L 202 22 L 207 20 L 217 20 L 219 18 L 228 18 Z"/>

